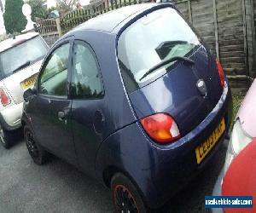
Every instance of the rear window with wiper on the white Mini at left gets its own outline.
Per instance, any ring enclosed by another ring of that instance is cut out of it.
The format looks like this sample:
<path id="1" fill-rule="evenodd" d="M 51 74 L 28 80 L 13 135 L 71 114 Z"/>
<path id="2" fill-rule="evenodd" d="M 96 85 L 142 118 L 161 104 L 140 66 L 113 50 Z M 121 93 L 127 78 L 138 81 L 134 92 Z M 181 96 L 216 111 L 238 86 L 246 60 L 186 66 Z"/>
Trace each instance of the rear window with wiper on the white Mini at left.
<path id="1" fill-rule="evenodd" d="M 39 36 L 3 51 L 0 53 L 1 78 L 42 60 L 47 52 L 48 48 Z"/>

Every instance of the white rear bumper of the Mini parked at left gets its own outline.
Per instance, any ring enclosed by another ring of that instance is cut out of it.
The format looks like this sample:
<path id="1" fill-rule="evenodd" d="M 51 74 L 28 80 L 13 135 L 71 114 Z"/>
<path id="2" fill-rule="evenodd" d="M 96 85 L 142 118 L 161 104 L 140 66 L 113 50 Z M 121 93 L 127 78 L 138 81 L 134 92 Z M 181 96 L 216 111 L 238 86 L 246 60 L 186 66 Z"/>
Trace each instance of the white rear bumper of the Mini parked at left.
<path id="1" fill-rule="evenodd" d="M 0 112 L 0 123 L 4 130 L 16 130 L 21 126 L 23 102 L 12 105 Z"/>

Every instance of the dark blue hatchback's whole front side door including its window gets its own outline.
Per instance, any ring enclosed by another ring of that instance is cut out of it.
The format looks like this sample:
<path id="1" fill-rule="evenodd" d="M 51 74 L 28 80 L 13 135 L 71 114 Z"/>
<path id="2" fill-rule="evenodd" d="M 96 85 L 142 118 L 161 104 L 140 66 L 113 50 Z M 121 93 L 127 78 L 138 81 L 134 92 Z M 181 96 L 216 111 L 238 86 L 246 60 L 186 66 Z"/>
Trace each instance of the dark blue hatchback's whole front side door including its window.
<path id="1" fill-rule="evenodd" d="M 73 42 L 63 41 L 45 60 L 38 76 L 38 95 L 34 100 L 37 112 L 32 120 L 40 144 L 76 164 L 68 94 L 72 51 Z"/>

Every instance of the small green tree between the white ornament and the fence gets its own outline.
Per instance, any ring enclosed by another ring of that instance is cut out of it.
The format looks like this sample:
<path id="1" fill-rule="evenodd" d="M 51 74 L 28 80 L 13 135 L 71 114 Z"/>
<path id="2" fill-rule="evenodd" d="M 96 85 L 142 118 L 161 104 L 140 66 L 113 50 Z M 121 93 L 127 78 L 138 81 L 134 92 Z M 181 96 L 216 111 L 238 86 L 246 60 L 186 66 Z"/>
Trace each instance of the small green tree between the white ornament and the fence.
<path id="1" fill-rule="evenodd" d="M 28 0 L 26 3 L 32 8 L 32 21 L 36 21 L 36 18 L 47 18 L 48 10 L 46 0 Z"/>

